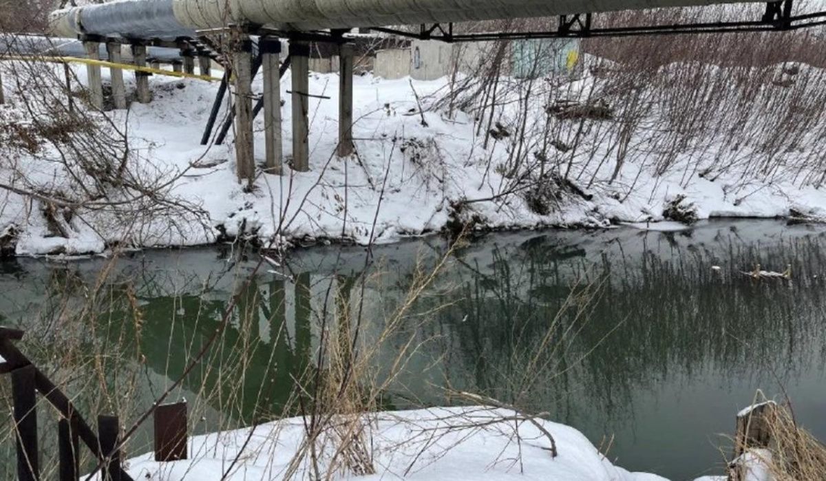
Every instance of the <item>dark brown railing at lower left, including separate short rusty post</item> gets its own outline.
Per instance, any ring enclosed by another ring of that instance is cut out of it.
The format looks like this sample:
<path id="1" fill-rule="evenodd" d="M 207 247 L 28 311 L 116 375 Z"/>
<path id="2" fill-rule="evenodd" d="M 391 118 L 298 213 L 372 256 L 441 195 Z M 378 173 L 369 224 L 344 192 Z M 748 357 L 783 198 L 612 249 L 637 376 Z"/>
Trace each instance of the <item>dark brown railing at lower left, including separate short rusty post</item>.
<path id="1" fill-rule="evenodd" d="M 0 374 L 12 377 L 13 418 L 17 438 L 17 479 L 39 481 L 37 394 L 60 414 L 58 421 L 59 481 L 78 481 L 79 441 L 92 451 L 105 481 L 134 481 L 121 467 L 120 422 L 116 416 L 98 416 L 97 434 L 69 398 L 17 349 L 24 332 L 0 326 Z M 155 416 L 155 460 L 187 458 L 187 406 L 185 402 L 159 406 Z"/>

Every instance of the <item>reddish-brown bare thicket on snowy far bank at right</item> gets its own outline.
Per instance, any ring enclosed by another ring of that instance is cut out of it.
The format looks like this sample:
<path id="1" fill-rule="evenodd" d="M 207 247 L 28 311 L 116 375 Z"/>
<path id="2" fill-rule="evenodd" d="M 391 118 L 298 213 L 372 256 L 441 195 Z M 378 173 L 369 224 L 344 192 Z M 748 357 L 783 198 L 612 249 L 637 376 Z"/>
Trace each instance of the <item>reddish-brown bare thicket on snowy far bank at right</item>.
<path id="1" fill-rule="evenodd" d="M 598 16 L 595 26 L 759 19 L 762 8 L 622 12 Z M 675 175 L 684 187 L 725 179 L 736 205 L 759 186 L 826 180 L 823 39 L 822 28 L 591 38 L 571 74 L 546 74 L 558 55 L 548 43 L 527 79 L 510 75 L 513 45 L 491 42 L 482 58 L 495 61 L 451 83 L 434 107 L 472 114 L 483 144 L 504 150 L 505 160 L 487 160 L 508 179 L 499 192 L 520 193 L 535 212 L 553 209 L 565 189 L 605 188 L 621 201 L 650 189 L 653 197 L 656 184 L 640 179 Z M 639 169 L 625 172 L 629 164 Z M 550 190 L 548 178 L 556 180 Z"/>

